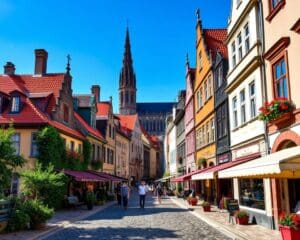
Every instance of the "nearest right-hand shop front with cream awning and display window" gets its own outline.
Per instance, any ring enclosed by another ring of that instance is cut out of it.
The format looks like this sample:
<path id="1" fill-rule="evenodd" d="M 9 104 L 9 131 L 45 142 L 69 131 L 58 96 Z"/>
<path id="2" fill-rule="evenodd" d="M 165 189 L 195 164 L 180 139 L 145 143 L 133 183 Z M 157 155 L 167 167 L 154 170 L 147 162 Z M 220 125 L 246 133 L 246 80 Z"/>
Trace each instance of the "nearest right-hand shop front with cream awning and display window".
<path id="1" fill-rule="evenodd" d="M 234 198 L 239 200 L 241 209 L 250 213 L 253 223 L 272 229 L 277 228 L 278 219 L 274 215 L 275 193 L 272 179 L 283 183 L 282 189 L 278 189 L 275 198 L 284 197 L 282 204 L 294 204 L 295 207 L 299 201 L 300 147 L 284 149 L 221 170 L 218 177 L 234 179 Z M 293 212 L 293 207 L 285 209 Z"/>

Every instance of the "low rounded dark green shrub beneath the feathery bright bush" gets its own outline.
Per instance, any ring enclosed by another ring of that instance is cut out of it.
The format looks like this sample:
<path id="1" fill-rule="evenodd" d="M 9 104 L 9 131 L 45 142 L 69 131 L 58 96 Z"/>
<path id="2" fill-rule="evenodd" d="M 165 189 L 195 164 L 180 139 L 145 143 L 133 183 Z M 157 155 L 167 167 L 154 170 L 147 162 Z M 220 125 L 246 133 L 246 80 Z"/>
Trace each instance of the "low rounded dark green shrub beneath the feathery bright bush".
<path id="1" fill-rule="evenodd" d="M 30 227 L 33 229 L 45 227 L 46 221 L 54 214 L 52 208 L 43 205 L 39 200 L 28 200 L 24 203 L 23 207 L 30 218 Z"/>

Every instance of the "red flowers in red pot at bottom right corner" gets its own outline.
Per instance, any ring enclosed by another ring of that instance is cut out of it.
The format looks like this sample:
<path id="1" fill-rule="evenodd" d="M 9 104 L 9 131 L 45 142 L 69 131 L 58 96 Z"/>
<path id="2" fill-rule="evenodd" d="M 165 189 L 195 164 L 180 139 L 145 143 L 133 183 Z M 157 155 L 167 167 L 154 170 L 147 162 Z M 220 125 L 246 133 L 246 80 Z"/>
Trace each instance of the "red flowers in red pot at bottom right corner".
<path id="1" fill-rule="evenodd" d="M 279 230 L 283 240 L 300 239 L 300 215 L 281 214 L 279 217 Z"/>

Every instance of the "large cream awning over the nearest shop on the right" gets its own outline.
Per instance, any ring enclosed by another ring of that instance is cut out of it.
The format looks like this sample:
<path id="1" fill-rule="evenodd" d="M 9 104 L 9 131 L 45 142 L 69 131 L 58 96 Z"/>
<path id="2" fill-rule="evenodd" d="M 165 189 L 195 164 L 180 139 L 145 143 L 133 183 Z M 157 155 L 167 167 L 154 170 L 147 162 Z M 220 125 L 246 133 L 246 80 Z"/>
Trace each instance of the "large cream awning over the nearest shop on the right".
<path id="1" fill-rule="evenodd" d="M 219 171 L 219 178 L 297 177 L 300 175 L 300 146 L 287 148 L 264 157 Z"/>

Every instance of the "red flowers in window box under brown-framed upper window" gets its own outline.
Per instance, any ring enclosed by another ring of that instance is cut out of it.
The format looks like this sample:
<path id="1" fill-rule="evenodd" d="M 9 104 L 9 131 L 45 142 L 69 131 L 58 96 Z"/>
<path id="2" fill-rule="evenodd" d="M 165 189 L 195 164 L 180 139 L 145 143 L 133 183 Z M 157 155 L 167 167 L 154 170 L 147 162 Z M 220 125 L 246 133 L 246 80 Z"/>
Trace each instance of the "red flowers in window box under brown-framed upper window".
<path id="1" fill-rule="evenodd" d="M 273 122 L 285 119 L 283 115 L 290 117 L 288 114 L 294 110 L 294 104 L 286 98 L 275 98 L 271 102 L 266 102 L 259 108 L 258 118 L 266 122 Z"/>

